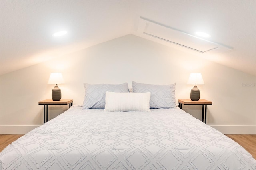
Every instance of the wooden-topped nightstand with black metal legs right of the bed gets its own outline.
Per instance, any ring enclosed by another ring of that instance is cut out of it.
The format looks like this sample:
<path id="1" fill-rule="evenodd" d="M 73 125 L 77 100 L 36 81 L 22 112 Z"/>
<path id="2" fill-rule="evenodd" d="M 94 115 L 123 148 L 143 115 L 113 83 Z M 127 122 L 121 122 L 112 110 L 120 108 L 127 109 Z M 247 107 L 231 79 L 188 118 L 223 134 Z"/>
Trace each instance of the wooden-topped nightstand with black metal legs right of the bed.
<path id="1" fill-rule="evenodd" d="M 206 124 L 207 105 L 212 105 L 212 101 L 208 101 L 205 99 L 200 99 L 199 101 L 192 101 L 190 99 L 179 99 L 178 102 L 179 102 L 180 109 L 182 109 L 182 104 L 183 105 L 202 105 L 202 122 Z M 204 106 L 205 106 L 205 109 L 204 109 Z"/>

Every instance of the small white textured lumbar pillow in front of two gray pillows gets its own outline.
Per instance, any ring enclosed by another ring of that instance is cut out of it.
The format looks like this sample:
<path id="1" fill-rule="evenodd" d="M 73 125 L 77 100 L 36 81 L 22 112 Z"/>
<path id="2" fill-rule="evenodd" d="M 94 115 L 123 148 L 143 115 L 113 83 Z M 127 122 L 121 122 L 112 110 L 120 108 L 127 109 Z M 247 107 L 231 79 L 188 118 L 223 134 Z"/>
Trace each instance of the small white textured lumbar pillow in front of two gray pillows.
<path id="1" fill-rule="evenodd" d="M 104 111 L 147 111 L 149 109 L 150 92 L 147 93 L 116 93 L 106 92 Z"/>

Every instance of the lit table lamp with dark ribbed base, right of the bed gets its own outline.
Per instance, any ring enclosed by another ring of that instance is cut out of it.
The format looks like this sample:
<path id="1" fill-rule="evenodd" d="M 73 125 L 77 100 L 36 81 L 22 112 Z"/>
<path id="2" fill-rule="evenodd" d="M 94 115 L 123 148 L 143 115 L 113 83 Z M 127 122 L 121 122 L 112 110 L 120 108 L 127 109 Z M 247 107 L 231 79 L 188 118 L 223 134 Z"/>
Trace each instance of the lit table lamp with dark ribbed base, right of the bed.
<path id="1" fill-rule="evenodd" d="M 188 78 L 187 84 L 194 85 L 194 88 L 191 89 L 191 92 L 190 92 L 190 99 L 192 101 L 198 101 L 200 99 L 200 91 L 197 88 L 197 85 L 204 84 L 204 80 L 201 73 L 191 73 Z"/>

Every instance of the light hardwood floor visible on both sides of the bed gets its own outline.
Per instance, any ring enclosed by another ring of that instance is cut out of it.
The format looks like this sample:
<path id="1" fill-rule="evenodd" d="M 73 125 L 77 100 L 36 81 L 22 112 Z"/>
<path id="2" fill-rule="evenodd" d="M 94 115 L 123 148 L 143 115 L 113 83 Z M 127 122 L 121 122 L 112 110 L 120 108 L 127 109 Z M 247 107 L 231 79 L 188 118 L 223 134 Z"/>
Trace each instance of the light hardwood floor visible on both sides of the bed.
<path id="1" fill-rule="evenodd" d="M 22 134 L 1 134 L 0 135 L 0 152 L 12 143 L 14 140 L 23 136 Z M 256 135 L 249 134 L 229 134 L 226 135 L 235 142 L 243 146 L 256 159 Z"/>

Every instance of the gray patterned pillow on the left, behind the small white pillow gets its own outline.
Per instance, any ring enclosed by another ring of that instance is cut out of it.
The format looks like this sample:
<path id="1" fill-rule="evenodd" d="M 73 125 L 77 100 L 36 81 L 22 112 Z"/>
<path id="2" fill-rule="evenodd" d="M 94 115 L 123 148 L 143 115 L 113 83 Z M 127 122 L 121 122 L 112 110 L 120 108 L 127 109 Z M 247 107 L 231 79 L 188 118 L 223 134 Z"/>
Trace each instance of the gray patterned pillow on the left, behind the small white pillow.
<path id="1" fill-rule="evenodd" d="M 104 109 L 105 93 L 112 92 L 129 92 L 128 83 L 124 84 L 86 84 L 84 83 L 85 95 L 82 109 Z"/>

